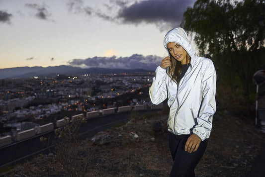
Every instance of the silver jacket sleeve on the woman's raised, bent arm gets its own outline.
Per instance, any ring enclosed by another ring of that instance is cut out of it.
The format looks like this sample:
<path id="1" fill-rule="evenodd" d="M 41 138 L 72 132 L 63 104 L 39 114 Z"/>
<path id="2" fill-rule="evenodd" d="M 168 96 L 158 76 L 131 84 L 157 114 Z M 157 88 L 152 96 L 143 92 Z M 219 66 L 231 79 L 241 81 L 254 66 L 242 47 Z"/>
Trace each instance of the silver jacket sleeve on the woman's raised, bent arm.
<path id="1" fill-rule="evenodd" d="M 160 66 L 157 67 L 156 76 L 153 78 L 153 83 L 149 88 L 149 95 L 153 104 L 159 104 L 163 102 L 168 96 L 166 77 L 166 69 L 163 69 Z"/>

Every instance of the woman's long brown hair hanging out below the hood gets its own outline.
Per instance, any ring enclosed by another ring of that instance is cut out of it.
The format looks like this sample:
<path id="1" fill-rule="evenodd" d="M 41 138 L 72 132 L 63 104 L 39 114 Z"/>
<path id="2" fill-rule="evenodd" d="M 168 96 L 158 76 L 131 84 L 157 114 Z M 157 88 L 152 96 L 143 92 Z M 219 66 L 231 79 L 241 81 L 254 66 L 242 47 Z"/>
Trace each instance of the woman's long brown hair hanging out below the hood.
<path id="1" fill-rule="evenodd" d="M 187 53 L 186 64 L 190 63 L 190 56 Z M 170 54 L 170 62 L 171 66 L 169 67 L 169 77 L 171 80 L 175 81 L 179 84 L 180 75 L 182 73 L 182 65 L 181 62 L 177 61 L 171 54 Z"/>

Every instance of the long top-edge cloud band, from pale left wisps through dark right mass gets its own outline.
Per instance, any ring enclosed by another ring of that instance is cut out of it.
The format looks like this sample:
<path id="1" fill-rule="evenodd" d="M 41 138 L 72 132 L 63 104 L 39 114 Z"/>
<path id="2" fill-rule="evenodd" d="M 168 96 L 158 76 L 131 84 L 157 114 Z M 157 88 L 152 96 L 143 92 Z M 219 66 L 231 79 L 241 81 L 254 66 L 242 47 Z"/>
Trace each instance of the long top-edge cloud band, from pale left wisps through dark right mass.
<path id="1" fill-rule="evenodd" d="M 161 30 L 179 26 L 187 7 L 196 0 L 105 0 L 96 7 L 85 6 L 84 0 L 69 0 L 70 12 L 85 13 L 115 23 L 155 24 Z"/>

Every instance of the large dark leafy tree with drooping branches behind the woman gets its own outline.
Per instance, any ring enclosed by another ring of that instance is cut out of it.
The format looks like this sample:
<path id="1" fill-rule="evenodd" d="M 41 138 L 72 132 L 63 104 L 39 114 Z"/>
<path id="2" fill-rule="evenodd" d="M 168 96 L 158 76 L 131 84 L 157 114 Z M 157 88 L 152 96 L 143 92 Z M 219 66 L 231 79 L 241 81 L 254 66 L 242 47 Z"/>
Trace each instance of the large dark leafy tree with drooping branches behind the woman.
<path id="1" fill-rule="evenodd" d="M 265 64 L 265 0 L 197 0 L 180 26 L 200 55 L 212 58 L 218 80 L 249 96 L 253 74 Z"/>

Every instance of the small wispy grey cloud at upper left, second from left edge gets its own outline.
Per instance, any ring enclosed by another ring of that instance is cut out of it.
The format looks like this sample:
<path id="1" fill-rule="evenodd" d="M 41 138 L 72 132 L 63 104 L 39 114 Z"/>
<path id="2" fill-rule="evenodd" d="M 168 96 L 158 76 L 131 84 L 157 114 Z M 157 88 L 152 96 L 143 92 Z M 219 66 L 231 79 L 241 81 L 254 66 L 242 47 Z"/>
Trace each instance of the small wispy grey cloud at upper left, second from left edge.
<path id="1" fill-rule="evenodd" d="M 25 4 L 26 7 L 28 8 L 32 8 L 34 10 L 36 10 L 35 16 L 41 20 L 47 20 L 49 21 L 48 17 L 51 16 L 51 13 L 47 10 L 47 8 L 49 8 L 49 6 L 43 4 L 43 5 L 39 5 L 36 3 L 27 3 Z M 50 20 L 50 21 L 54 21 L 54 20 Z"/>

